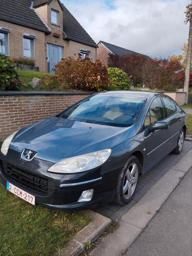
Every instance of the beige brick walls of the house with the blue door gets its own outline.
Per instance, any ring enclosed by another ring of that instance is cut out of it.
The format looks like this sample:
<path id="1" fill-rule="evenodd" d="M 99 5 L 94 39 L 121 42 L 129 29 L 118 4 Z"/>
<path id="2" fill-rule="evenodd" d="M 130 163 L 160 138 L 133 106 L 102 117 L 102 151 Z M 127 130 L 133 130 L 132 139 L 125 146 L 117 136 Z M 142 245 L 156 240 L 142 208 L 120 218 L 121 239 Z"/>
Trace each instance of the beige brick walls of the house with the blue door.
<path id="1" fill-rule="evenodd" d="M 59 26 L 51 24 L 51 9 L 59 12 Z M 62 46 L 63 58 L 76 58 L 78 53 L 80 53 L 81 48 L 90 50 L 90 58 L 93 61 L 96 61 L 96 48 L 64 39 L 63 12 L 57 0 L 53 0 L 49 5 L 45 4 L 35 8 L 35 12 L 37 12 L 41 19 L 43 19 L 43 21 L 51 29 L 51 34 L 45 34 L 44 32 L 37 31 L 35 29 L 30 29 L 0 20 L 0 27 L 5 27 L 11 30 L 9 33 L 10 57 L 23 56 L 22 38 L 23 33 L 27 33 L 36 36 L 35 65 L 39 67 L 41 72 L 47 72 L 49 70 L 47 65 L 47 44 Z M 57 35 L 54 36 L 54 34 Z"/>

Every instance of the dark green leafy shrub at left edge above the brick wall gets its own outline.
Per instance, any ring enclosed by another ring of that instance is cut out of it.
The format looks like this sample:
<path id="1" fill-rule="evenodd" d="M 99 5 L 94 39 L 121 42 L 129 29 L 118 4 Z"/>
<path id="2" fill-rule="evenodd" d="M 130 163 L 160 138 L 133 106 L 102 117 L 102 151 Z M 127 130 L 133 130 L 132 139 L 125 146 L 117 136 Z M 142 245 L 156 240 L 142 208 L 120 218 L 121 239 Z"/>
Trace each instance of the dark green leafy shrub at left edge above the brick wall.
<path id="1" fill-rule="evenodd" d="M 22 81 L 9 58 L 0 54 L 0 91 L 18 90 Z"/>

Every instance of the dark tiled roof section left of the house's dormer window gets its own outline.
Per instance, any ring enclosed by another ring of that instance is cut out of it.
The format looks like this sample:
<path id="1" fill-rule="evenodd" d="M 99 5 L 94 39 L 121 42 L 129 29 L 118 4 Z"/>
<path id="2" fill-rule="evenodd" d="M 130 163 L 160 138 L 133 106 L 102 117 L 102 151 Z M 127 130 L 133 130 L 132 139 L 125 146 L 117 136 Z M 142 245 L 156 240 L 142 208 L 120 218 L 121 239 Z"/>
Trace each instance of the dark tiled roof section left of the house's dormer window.
<path id="1" fill-rule="evenodd" d="M 30 8 L 31 2 L 31 0 L 1 1 L 0 19 L 50 34 L 51 32 L 44 22 L 36 12 Z"/>

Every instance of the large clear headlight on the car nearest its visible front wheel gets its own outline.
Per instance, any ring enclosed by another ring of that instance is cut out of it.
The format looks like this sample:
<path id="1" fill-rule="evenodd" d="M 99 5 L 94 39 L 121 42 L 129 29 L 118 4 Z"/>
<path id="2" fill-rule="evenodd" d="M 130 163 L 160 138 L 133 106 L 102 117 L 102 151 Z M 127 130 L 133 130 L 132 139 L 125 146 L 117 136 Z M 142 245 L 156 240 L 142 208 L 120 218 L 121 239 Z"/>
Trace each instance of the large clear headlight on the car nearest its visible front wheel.
<path id="1" fill-rule="evenodd" d="M 47 171 L 61 174 L 85 172 L 102 165 L 111 155 L 111 149 L 103 149 L 86 155 L 74 156 L 52 165 Z"/>

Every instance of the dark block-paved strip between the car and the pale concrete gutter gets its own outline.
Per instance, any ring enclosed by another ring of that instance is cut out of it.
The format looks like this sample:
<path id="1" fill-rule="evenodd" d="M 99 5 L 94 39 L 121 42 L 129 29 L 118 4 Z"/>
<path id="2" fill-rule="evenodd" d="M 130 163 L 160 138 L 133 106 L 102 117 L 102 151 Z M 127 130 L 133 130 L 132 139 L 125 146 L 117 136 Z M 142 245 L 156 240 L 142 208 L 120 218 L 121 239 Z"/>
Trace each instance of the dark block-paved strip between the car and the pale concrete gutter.
<path id="1" fill-rule="evenodd" d="M 105 204 L 97 208 L 106 216 L 113 220 L 119 220 L 146 192 L 158 182 L 169 169 L 173 167 L 179 160 L 192 148 L 192 143 L 185 141 L 182 153 L 180 155 L 169 154 L 160 161 L 149 172 L 140 178 L 140 182 L 136 189 L 136 194 L 126 206 L 120 206 L 115 203 Z"/>

